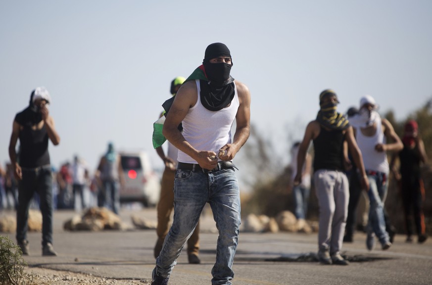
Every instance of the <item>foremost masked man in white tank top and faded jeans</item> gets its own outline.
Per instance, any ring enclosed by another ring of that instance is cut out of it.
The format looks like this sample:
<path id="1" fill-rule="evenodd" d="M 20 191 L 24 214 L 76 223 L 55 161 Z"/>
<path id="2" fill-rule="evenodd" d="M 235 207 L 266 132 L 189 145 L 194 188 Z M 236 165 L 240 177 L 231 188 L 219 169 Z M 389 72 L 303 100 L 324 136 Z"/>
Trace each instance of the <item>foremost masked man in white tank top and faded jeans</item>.
<path id="1" fill-rule="evenodd" d="M 203 64 L 182 85 L 167 113 L 162 133 L 179 149 L 174 219 L 156 259 L 152 285 L 168 284 L 207 202 L 219 230 L 211 284 L 232 284 L 240 228 L 240 189 L 232 160 L 250 130 L 249 90 L 231 77 L 232 66 L 228 47 L 209 45 Z M 178 129 L 180 123 L 183 132 Z"/>

